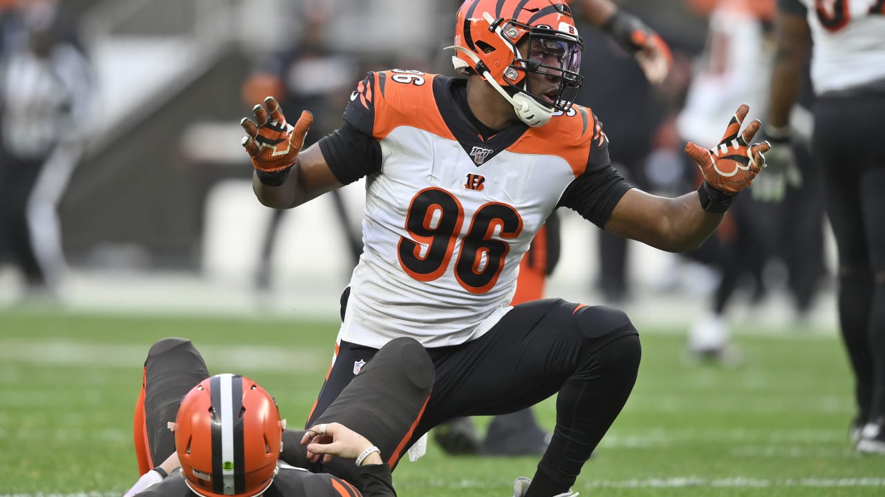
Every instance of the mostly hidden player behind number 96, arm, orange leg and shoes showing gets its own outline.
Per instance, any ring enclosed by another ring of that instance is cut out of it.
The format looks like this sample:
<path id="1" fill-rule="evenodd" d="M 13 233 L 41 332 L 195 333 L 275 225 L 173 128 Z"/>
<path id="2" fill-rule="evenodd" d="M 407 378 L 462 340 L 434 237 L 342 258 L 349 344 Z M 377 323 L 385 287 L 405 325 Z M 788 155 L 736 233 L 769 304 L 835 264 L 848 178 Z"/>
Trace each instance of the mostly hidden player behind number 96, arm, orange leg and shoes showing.
<path id="1" fill-rule="evenodd" d="M 660 84 L 664 81 L 672 63 L 670 49 L 642 20 L 620 10 L 611 0 L 573 0 L 570 4 L 575 7 L 575 12 L 581 19 L 601 29 L 620 47 L 633 54 L 650 83 Z M 554 223 L 555 226 L 547 226 L 536 235 L 531 250 L 519 264 L 516 294 L 511 305 L 543 298 L 544 281 L 558 260 L 560 233 L 556 211 L 548 223 Z M 602 232 L 601 236 L 606 234 L 608 233 Z M 615 243 L 620 244 L 623 239 L 618 240 Z M 548 249 L 553 251 L 548 256 L 543 256 L 543 251 Z M 532 252 L 535 250 L 537 251 L 533 256 Z M 546 267 L 535 264 L 540 261 L 549 261 L 550 264 Z M 492 419 L 482 441 L 473 422 L 466 417 L 458 417 L 437 426 L 434 440 L 445 452 L 452 455 L 540 455 L 547 446 L 549 434 L 537 423 L 529 408 Z"/>

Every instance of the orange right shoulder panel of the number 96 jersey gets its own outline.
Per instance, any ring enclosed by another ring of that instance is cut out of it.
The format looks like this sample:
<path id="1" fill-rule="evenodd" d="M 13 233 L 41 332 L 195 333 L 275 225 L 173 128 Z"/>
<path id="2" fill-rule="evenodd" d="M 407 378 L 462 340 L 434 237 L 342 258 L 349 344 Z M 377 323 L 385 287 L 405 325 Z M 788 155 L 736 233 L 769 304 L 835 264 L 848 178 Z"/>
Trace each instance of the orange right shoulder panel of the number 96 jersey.
<path id="1" fill-rule="evenodd" d="M 519 154 L 562 157 L 572 167 L 574 176 L 581 176 L 587 169 L 590 149 L 602 144 L 597 136 L 601 127 L 593 112 L 586 107 L 574 105 L 572 115 L 553 116 L 544 126 L 528 128 L 508 150 Z"/>

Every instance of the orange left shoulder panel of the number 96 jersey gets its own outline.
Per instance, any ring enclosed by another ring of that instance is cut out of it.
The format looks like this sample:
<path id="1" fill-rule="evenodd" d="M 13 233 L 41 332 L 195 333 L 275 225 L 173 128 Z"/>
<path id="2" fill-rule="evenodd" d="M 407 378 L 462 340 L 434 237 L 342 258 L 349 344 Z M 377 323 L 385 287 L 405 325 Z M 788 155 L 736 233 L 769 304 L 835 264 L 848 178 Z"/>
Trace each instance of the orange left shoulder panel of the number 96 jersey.
<path id="1" fill-rule="evenodd" d="M 395 79 L 395 76 L 400 78 Z M 436 106 L 433 84 L 435 77 L 436 74 L 403 74 L 392 71 L 374 73 L 376 92 L 373 134 L 377 140 L 383 140 L 399 126 L 415 127 L 448 140 L 455 140 L 455 135 L 446 126 Z"/>

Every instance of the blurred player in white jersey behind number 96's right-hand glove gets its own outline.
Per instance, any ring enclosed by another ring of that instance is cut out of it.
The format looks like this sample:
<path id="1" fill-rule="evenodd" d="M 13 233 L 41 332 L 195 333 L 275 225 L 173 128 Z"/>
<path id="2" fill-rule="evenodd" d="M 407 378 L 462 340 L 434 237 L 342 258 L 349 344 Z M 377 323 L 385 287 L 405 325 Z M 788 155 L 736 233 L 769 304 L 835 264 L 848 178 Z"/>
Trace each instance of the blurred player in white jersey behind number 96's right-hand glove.
<path id="1" fill-rule="evenodd" d="M 735 103 L 765 109 L 768 72 L 773 54 L 766 23 L 773 18 L 774 0 L 720 0 L 712 6 L 704 52 L 696 62 L 686 103 L 676 120 L 682 140 L 714 139 L 714 123 L 731 114 Z M 753 71 L 747 67 L 752 66 Z M 703 179 L 698 179 L 697 182 Z M 750 191 L 757 184 L 754 181 Z M 710 310 L 689 328 L 688 348 L 695 356 L 734 363 L 735 347 L 725 314 L 727 303 L 743 275 L 762 284 L 762 266 L 770 253 L 772 216 L 759 216 L 765 204 L 748 198 L 729 210 L 716 233 L 690 256 L 711 264 L 720 279 Z"/>

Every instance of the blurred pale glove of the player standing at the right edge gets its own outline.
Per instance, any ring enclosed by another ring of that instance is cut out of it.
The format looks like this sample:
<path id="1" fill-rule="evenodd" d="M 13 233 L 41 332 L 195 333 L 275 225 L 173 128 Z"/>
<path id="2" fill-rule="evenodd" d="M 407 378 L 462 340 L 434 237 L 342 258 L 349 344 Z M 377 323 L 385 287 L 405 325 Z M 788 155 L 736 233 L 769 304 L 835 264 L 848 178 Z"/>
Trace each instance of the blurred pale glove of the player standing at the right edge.
<path id="1" fill-rule="evenodd" d="M 802 171 L 796 162 L 796 152 L 789 127 L 765 127 L 765 134 L 772 149 L 766 154 L 768 170 L 759 177 L 750 193 L 762 202 L 778 203 L 787 193 L 787 187 L 802 187 Z"/>

